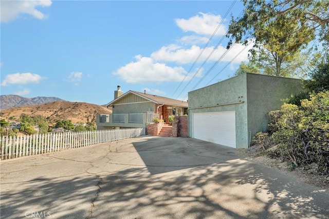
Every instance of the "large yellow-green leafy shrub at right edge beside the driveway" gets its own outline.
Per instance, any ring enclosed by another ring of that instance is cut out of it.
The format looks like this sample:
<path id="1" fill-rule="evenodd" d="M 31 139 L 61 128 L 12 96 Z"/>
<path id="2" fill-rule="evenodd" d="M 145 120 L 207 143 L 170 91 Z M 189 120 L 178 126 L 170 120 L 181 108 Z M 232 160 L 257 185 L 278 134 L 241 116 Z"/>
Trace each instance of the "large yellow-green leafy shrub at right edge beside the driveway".
<path id="1" fill-rule="evenodd" d="M 328 174 L 329 91 L 310 95 L 310 100 L 301 101 L 301 107 L 285 103 L 281 114 L 272 129 L 280 158 L 296 167 L 317 163 L 318 172 Z"/>

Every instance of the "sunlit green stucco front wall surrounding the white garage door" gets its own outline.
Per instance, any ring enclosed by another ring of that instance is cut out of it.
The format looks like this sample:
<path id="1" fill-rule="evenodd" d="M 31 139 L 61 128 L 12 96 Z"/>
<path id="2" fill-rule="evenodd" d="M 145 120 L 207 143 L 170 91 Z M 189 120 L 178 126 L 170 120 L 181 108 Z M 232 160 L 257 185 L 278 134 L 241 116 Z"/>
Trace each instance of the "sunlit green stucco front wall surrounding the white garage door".
<path id="1" fill-rule="evenodd" d="M 246 75 L 240 75 L 189 92 L 189 137 L 193 137 L 193 113 L 235 111 L 236 148 L 247 147 L 246 79 Z M 216 106 L 221 104 L 228 105 Z"/>

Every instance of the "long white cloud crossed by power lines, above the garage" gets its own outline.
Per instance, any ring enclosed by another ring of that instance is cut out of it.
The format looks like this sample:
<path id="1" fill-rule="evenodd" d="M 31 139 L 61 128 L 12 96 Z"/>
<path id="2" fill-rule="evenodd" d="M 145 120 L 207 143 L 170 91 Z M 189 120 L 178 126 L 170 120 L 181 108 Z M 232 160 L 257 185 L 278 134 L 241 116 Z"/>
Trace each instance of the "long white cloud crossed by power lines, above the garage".
<path id="1" fill-rule="evenodd" d="M 235 44 L 228 51 L 228 53 L 221 60 L 222 62 L 231 61 L 237 53 L 239 53 L 245 46 L 241 44 Z M 232 63 L 240 63 L 242 61 L 248 60 L 248 50 L 252 47 L 252 44 L 248 45 L 246 49 L 238 56 Z M 214 47 L 207 47 L 199 58 L 199 62 L 206 60 L 209 54 L 212 52 Z M 182 48 L 175 44 L 169 46 L 163 46 L 158 51 L 155 51 L 151 54 L 151 58 L 156 61 L 163 62 L 177 62 L 180 64 L 193 63 L 196 58 L 199 56 L 202 48 L 199 46 L 191 46 L 190 48 Z M 222 45 L 218 46 L 215 51 L 212 53 L 208 62 L 217 61 L 218 58 L 224 54 L 226 48 Z"/>

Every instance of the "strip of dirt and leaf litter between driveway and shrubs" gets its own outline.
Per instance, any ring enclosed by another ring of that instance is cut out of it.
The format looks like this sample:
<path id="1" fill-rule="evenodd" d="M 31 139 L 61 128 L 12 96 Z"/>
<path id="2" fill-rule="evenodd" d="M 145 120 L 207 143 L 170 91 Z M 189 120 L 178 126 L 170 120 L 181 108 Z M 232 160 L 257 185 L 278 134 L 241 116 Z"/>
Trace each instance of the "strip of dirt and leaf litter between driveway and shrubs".
<path id="1" fill-rule="evenodd" d="M 264 150 L 260 147 L 250 147 L 248 149 L 238 149 L 240 154 L 245 156 L 245 159 L 252 160 L 267 167 L 280 170 L 290 174 L 297 180 L 301 180 L 306 184 L 316 186 L 320 189 L 329 189 L 329 176 L 318 175 L 314 169 L 306 170 L 303 167 L 293 168 L 290 163 L 267 157 Z"/>

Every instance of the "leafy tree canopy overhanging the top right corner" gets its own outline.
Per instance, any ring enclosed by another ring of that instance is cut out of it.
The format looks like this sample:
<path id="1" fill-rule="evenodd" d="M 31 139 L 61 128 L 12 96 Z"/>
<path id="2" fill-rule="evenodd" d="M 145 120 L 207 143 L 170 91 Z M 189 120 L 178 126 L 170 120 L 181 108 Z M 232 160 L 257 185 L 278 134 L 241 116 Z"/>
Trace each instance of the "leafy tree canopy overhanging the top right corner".
<path id="1" fill-rule="evenodd" d="M 236 42 L 247 44 L 248 39 L 255 39 L 255 46 L 273 40 L 278 44 L 294 36 L 296 43 L 305 44 L 317 34 L 329 40 L 327 0 L 242 1 L 243 15 L 238 19 L 232 17 L 228 31 Z"/>

